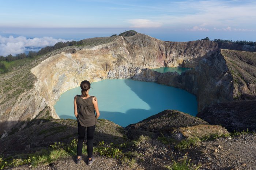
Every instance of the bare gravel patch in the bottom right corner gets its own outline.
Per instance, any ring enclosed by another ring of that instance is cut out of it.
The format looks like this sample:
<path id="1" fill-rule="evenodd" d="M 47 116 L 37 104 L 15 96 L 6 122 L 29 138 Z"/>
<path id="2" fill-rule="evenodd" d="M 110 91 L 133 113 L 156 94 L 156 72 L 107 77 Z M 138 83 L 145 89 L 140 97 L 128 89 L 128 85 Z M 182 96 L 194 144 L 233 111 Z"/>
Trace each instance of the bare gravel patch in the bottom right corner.
<path id="1" fill-rule="evenodd" d="M 205 170 L 256 170 L 255 135 L 205 141 L 190 153 Z"/>

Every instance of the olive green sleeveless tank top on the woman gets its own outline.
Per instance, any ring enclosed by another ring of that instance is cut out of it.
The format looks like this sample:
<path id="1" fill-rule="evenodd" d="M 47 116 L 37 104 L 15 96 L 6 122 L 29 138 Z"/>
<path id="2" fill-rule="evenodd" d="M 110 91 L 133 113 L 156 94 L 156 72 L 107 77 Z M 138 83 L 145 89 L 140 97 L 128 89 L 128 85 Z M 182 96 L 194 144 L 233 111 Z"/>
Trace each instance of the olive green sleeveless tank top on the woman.
<path id="1" fill-rule="evenodd" d="M 83 99 L 80 95 L 76 97 L 76 106 L 78 109 L 77 121 L 82 126 L 93 126 L 97 123 L 94 113 L 93 96 Z"/>

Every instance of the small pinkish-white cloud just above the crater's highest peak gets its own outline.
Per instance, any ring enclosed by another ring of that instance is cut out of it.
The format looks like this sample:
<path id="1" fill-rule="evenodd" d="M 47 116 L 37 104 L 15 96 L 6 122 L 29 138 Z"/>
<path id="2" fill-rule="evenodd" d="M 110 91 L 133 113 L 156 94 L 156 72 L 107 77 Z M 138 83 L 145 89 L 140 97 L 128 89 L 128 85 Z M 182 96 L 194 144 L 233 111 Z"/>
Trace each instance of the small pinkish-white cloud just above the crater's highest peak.
<path id="1" fill-rule="evenodd" d="M 157 21 L 151 21 L 148 19 L 130 19 L 128 23 L 132 24 L 133 28 L 145 28 L 145 27 L 161 27 L 162 23 Z"/>

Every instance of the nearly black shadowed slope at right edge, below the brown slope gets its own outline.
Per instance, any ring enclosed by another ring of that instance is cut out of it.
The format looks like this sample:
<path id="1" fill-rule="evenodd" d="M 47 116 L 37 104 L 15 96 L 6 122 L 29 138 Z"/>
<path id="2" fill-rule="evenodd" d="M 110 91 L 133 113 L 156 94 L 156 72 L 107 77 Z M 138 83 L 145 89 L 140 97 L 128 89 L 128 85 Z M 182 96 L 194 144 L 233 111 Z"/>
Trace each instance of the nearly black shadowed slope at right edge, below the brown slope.
<path id="1" fill-rule="evenodd" d="M 256 130 L 256 100 L 215 104 L 199 112 L 197 117 L 210 124 L 221 124 L 227 130 Z"/>

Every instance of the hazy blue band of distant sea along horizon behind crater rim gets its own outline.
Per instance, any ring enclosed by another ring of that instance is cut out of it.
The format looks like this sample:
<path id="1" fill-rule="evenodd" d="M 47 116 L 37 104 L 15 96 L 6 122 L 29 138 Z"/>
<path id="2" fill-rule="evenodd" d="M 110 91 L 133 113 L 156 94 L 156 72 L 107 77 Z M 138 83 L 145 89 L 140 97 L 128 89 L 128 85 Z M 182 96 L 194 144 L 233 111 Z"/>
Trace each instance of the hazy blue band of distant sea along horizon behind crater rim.
<path id="1" fill-rule="evenodd" d="M 53 37 L 62 39 L 80 39 L 93 37 L 108 37 L 113 34 L 120 34 L 124 31 L 135 30 L 138 33 L 147 34 L 151 37 L 161 39 L 163 41 L 194 41 L 209 37 L 210 39 L 230 39 L 230 40 L 246 40 L 255 41 L 256 34 L 252 35 L 248 32 L 240 32 L 234 34 L 232 31 L 188 31 L 173 30 L 170 28 L 20 28 L 20 27 L 0 27 L 0 35 L 8 37 L 25 36 L 27 38 L 34 37 Z"/>

